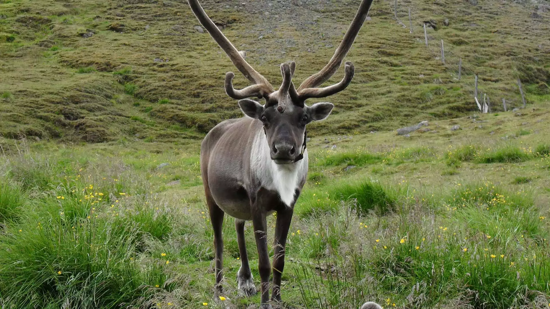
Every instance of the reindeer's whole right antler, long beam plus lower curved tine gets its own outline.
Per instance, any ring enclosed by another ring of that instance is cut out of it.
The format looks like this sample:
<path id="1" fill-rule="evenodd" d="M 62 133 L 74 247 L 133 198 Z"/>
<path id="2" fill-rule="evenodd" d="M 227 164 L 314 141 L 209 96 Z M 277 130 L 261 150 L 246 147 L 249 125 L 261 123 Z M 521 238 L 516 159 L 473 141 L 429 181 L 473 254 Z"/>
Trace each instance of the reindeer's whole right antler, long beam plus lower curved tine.
<path id="1" fill-rule="evenodd" d="M 342 81 L 332 86 L 316 88 L 317 86 L 323 84 L 323 82 L 331 78 L 331 76 L 334 75 L 334 73 L 336 73 L 336 71 L 340 67 L 340 64 L 342 64 L 342 60 L 344 60 L 344 57 L 351 48 L 355 37 L 359 33 L 361 26 L 367 18 L 368 10 L 371 7 L 372 1 L 373 0 L 363 0 L 361 2 L 361 5 L 359 6 L 357 13 L 355 14 L 355 18 L 353 19 L 353 21 L 351 21 L 351 25 L 349 26 L 348 31 L 345 33 L 342 42 L 334 52 L 334 56 L 332 56 L 332 59 L 328 62 L 327 65 L 324 66 L 321 71 L 311 75 L 309 78 L 304 80 L 300 87 L 298 87 L 298 90 L 296 90 L 296 93 L 293 94 L 294 96 L 298 96 L 301 101 L 304 101 L 307 98 L 322 98 L 340 92 L 349 85 L 354 74 L 353 63 L 351 63 L 350 61 L 345 63 L 345 75 Z M 294 87 L 290 88 L 290 91 L 292 92 Z"/>

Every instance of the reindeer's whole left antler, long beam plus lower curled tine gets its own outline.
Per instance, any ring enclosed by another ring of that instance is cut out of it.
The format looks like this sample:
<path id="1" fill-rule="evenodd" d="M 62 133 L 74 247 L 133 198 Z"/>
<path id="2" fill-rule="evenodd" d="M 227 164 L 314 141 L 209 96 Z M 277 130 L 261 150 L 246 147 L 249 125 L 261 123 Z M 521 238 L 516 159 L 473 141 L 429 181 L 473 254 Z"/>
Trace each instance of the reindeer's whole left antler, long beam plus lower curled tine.
<path id="1" fill-rule="evenodd" d="M 218 29 L 218 27 L 213 23 L 213 21 L 206 15 L 204 9 L 202 9 L 201 5 L 198 1 L 195 0 L 188 0 L 189 6 L 191 7 L 191 10 L 201 23 L 203 27 L 205 27 L 206 31 L 212 36 L 214 41 L 218 43 L 219 47 L 223 49 L 224 52 L 226 52 L 227 56 L 229 56 L 229 59 L 231 59 L 231 62 L 237 67 L 237 69 L 240 71 L 240 73 L 243 73 L 243 75 L 250 80 L 251 82 L 254 82 L 255 85 L 248 86 L 243 90 L 235 90 L 233 88 L 233 78 L 235 74 L 233 72 L 228 72 L 226 74 L 226 93 L 228 96 L 234 98 L 234 99 L 243 99 L 246 97 L 267 97 L 271 92 L 274 91 L 273 86 L 271 86 L 270 82 L 267 81 L 266 78 L 264 78 L 260 73 L 258 73 L 254 68 L 246 62 L 243 56 L 237 51 L 237 48 L 233 46 L 231 42 L 227 39 L 226 36 L 222 34 L 222 31 Z"/>

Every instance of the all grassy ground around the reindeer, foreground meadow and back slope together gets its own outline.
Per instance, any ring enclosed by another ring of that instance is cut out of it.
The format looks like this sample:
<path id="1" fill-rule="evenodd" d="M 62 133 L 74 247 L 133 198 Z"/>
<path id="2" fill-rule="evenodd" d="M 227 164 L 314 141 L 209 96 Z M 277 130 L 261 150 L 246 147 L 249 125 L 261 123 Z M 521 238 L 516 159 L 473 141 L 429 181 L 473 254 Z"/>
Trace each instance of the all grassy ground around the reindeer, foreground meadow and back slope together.
<path id="1" fill-rule="evenodd" d="M 213 297 L 200 140 L 241 112 L 186 3 L 0 2 L 0 307 L 255 308 L 227 216 Z M 281 62 L 296 83 L 323 67 L 358 4 L 204 6 L 278 85 Z M 550 3 L 399 0 L 399 20 L 393 5 L 373 4 L 354 81 L 309 130 L 283 307 L 549 308 Z M 476 73 L 492 113 L 476 111 Z M 527 106 L 503 112 L 522 106 L 518 78 Z"/>

